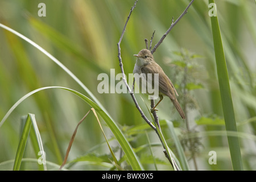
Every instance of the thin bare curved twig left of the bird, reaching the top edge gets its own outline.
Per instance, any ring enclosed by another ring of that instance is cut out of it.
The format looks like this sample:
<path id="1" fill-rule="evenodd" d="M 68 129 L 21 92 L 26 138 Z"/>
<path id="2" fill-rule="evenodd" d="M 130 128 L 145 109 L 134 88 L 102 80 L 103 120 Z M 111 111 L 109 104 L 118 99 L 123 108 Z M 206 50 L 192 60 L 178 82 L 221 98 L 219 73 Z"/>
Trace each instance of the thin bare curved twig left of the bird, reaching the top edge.
<path id="1" fill-rule="evenodd" d="M 130 93 L 130 95 L 131 95 L 131 98 L 133 98 L 133 101 L 134 101 L 135 106 L 136 106 L 137 109 L 139 110 L 139 113 L 141 113 L 141 117 L 148 123 L 148 125 L 150 125 L 150 127 L 151 127 L 152 129 L 154 129 L 154 130 L 156 131 L 156 127 L 155 127 L 154 125 L 152 125 L 152 123 L 147 119 L 146 115 L 145 115 L 145 114 L 143 113 L 143 111 L 141 110 L 141 107 L 139 107 L 139 104 L 138 104 L 138 102 L 137 102 L 137 100 L 136 100 L 136 98 L 135 98 L 135 96 L 134 96 L 134 93 L 133 93 L 133 91 L 130 89 L 130 87 L 129 87 L 128 83 L 127 83 L 127 80 L 126 80 L 126 78 L 125 78 L 125 71 L 123 71 L 123 63 L 122 63 L 122 58 L 121 58 L 121 47 L 120 47 L 120 44 L 121 44 L 121 42 L 122 42 L 123 34 L 125 34 L 125 28 L 126 28 L 127 23 L 128 23 L 128 21 L 129 21 L 129 19 L 130 19 L 131 13 L 133 12 L 133 9 L 135 8 L 137 2 L 138 2 L 138 0 L 135 1 L 133 7 L 131 7 L 130 13 L 129 13 L 129 15 L 128 15 L 128 17 L 127 17 L 127 20 L 126 20 L 126 22 L 125 22 L 125 26 L 123 27 L 123 31 L 122 31 L 122 34 L 121 34 L 121 36 L 120 36 L 119 42 L 117 43 L 118 60 L 119 60 L 119 66 L 120 66 L 121 72 L 122 72 L 122 79 L 123 79 L 123 82 L 125 82 L 126 88 L 127 88 L 127 90 L 129 90 L 129 93 Z"/>

